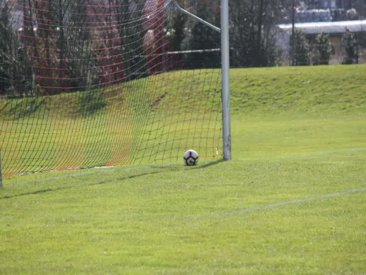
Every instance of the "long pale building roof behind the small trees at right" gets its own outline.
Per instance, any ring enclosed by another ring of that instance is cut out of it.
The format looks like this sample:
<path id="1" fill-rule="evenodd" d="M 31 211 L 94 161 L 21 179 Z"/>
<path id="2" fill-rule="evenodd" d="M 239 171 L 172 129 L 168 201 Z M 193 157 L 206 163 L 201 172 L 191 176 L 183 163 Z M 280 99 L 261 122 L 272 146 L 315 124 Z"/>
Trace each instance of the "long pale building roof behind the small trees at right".
<path id="1" fill-rule="evenodd" d="M 291 32 L 293 24 L 280 24 L 278 27 L 286 32 Z M 306 34 L 320 34 L 321 32 L 343 34 L 346 27 L 350 29 L 350 32 L 366 32 L 366 20 L 295 23 L 295 28 L 304 30 Z"/>

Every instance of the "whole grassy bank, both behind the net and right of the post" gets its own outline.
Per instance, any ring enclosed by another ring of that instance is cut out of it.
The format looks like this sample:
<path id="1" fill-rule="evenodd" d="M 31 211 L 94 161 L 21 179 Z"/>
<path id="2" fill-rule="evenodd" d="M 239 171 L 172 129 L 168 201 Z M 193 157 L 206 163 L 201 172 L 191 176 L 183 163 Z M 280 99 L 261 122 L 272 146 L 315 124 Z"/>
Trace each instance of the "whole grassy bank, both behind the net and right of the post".
<path id="1" fill-rule="evenodd" d="M 365 74 L 365 65 L 231 69 L 232 113 L 366 113 Z M 138 109 L 138 114 L 144 111 L 140 107 L 159 101 L 159 104 L 153 104 L 153 111 L 162 111 L 168 104 L 181 105 L 189 100 L 187 90 L 195 94 L 196 103 L 206 99 L 206 94 L 218 92 L 219 78 L 220 72 L 214 69 L 175 72 L 154 76 L 149 81 L 144 78 L 104 88 L 102 94 L 95 90 L 36 100 L 2 100 L 1 109 L 8 120 L 15 118 L 12 116 L 14 113 L 34 116 L 54 113 L 78 118 L 78 115 L 90 115 L 102 107 L 110 109 L 124 102 L 131 109 Z M 196 94 L 195 91 L 202 93 Z M 32 108 L 31 102 L 34 104 Z M 29 113 L 29 109 L 34 111 Z M 8 113 L 10 110 L 16 111 Z"/>

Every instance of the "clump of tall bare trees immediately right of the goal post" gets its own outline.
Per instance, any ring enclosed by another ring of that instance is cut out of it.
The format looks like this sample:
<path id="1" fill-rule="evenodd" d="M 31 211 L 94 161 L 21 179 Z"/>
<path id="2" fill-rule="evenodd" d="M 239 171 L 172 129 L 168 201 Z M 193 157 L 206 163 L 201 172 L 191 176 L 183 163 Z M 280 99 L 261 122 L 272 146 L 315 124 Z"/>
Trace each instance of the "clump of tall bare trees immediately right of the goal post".
<path id="1" fill-rule="evenodd" d="M 286 0 L 231 0 L 230 40 L 233 65 L 244 67 L 277 64 L 275 29 L 282 19 Z"/>

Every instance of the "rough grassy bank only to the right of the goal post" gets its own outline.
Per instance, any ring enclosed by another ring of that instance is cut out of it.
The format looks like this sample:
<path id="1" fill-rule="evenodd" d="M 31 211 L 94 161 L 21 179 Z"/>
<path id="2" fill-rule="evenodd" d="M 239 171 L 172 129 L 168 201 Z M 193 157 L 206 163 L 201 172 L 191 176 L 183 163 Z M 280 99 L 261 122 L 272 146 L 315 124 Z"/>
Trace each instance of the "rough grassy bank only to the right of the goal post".
<path id="1" fill-rule="evenodd" d="M 365 73 L 365 65 L 234 69 L 233 113 L 365 113 Z"/>

